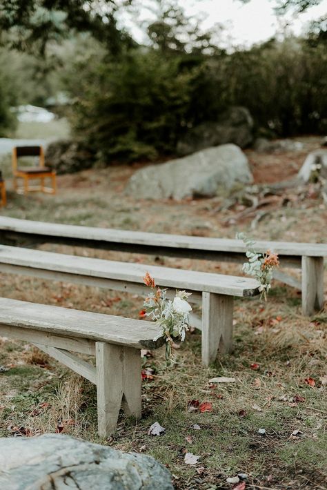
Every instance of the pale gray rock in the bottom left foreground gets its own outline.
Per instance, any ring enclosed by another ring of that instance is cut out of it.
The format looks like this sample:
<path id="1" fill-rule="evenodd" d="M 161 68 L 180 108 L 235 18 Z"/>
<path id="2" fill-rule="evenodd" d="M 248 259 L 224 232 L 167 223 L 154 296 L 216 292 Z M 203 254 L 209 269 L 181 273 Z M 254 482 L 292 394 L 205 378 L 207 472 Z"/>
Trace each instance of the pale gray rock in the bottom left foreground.
<path id="1" fill-rule="evenodd" d="M 172 490 L 169 471 L 150 456 L 123 453 L 62 434 L 0 439 L 5 490 Z"/>

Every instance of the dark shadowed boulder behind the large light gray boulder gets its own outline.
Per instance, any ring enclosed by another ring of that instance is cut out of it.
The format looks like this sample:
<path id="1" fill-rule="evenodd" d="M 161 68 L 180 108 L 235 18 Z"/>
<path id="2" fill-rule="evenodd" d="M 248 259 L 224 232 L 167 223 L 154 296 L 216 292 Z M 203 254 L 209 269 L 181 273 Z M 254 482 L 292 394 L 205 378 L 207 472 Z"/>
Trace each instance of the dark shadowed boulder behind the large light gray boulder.
<path id="1" fill-rule="evenodd" d="M 231 107 L 217 122 L 205 122 L 186 133 L 177 144 L 179 155 L 190 155 L 210 146 L 234 143 L 246 148 L 253 140 L 253 119 L 245 107 Z"/>

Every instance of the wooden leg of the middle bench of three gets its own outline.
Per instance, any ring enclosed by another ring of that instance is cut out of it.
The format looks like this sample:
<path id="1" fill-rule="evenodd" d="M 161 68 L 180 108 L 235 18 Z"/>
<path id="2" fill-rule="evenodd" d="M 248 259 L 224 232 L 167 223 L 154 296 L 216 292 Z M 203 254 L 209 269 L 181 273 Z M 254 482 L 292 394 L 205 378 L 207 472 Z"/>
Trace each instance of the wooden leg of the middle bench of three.
<path id="1" fill-rule="evenodd" d="M 215 362 L 218 350 L 232 349 L 232 296 L 202 293 L 202 364 Z"/>

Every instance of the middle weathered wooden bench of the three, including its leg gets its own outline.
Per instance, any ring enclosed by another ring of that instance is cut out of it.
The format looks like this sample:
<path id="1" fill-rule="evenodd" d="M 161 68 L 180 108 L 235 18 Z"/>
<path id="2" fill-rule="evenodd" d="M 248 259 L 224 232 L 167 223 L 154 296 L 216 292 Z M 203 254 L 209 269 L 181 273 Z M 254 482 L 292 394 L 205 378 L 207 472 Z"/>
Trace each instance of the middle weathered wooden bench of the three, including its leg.
<path id="1" fill-rule="evenodd" d="M 186 289 L 191 302 L 202 305 L 202 320 L 192 318 L 201 329 L 202 363 L 215 361 L 218 350 L 232 349 L 233 297 L 259 294 L 259 282 L 248 277 L 184 271 L 145 264 L 44 252 L 0 245 L 0 272 L 21 273 L 57 281 L 146 294 L 143 277 L 149 272 L 161 287 Z M 175 295 L 175 291 L 170 291 Z"/>

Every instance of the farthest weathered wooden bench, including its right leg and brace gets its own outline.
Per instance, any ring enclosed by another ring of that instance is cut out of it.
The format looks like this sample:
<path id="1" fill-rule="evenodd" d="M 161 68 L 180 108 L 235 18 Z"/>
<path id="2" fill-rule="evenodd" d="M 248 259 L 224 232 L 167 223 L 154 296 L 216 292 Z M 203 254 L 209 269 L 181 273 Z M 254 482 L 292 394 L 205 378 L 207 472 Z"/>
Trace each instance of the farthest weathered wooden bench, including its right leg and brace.
<path id="1" fill-rule="evenodd" d="M 34 222 L 0 217 L 0 242 L 27 239 L 29 242 L 52 242 L 103 250 L 150 255 L 166 255 L 217 262 L 245 262 L 246 246 L 241 240 L 166 235 L 143 231 L 90 228 L 67 224 Z M 255 248 L 279 254 L 281 267 L 301 269 L 301 282 L 279 269 L 275 278 L 302 291 L 304 315 L 312 315 L 324 306 L 324 257 L 327 244 L 267 242 L 259 240 Z"/>

